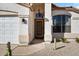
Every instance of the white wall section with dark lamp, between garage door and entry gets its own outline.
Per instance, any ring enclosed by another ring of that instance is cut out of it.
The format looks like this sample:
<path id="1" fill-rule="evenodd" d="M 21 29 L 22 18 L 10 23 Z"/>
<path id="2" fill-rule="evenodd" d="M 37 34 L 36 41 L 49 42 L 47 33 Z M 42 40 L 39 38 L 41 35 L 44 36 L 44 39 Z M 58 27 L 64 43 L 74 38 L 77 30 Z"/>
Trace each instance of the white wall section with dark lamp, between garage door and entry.
<path id="1" fill-rule="evenodd" d="M 29 31 L 28 31 L 28 18 L 24 18 L 27 24 L 22 22 L 22 18 L 19 19 L 19 42 L 20 44 L 29 43 Z"/>

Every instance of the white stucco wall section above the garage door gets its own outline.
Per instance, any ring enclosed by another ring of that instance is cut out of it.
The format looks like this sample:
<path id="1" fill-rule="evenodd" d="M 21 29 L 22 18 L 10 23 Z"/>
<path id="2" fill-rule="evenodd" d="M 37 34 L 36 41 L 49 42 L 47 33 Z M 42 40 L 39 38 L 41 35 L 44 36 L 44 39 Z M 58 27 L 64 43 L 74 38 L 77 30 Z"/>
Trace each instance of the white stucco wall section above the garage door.
<path id="1" fill-rule="evenodd" d="M 0 10 L 18 12 L 19 15 L 29 15 L 29 9 L 16 3 L 0 3 Z"/>

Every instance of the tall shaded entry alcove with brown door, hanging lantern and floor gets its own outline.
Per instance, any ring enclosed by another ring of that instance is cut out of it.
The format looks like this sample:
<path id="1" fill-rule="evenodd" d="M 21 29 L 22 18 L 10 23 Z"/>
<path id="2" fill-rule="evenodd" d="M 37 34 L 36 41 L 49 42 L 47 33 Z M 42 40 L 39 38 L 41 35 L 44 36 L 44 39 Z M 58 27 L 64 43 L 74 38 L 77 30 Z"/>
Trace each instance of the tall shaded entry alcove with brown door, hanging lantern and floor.
<path id="1" fill-rule="evenodd" d="M 34 3 L 34 40 L 32 44 L 44 42 L 44 3 Z"/>

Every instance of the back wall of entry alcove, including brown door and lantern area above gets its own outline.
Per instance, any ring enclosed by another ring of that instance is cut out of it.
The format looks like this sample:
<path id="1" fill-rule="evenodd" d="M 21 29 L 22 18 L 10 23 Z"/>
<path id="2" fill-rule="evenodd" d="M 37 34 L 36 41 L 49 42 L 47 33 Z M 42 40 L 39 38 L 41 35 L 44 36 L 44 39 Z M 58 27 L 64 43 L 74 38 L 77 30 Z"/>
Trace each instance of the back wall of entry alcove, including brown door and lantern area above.
<path id="1" fill-rule="evenodd" d="M 44 4 L 35 4 L 35 39 L 44 39 Z"/>

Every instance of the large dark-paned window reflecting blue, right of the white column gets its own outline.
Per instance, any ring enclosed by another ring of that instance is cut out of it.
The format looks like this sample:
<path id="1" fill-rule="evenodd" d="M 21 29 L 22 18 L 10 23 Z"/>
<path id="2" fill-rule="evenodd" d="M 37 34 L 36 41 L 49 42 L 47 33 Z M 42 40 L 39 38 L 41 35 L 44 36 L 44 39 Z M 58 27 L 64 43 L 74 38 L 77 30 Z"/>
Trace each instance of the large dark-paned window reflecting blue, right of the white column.
<path id="1" fill-rule="evenodd" d="M 53 16 L 53 32 L 64 33 L 71 31 L 71 20 L 68 15 Z"/>

